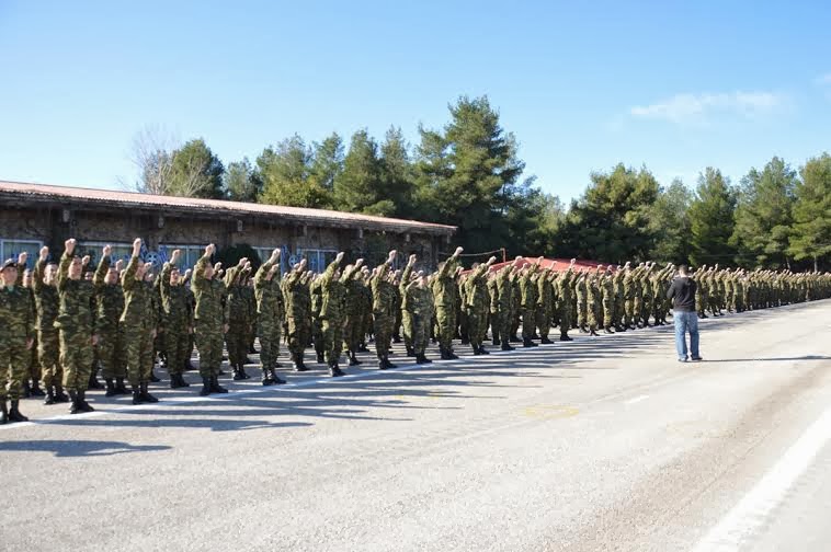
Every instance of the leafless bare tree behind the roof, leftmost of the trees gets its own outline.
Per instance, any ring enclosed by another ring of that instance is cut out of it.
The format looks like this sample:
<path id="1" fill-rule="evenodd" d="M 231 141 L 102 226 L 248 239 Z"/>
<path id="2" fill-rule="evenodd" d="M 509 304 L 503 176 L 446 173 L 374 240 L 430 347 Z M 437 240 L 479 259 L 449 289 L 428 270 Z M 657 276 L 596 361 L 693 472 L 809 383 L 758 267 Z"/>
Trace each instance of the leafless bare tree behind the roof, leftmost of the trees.
<path id="1" fill-rule="evenodd" d="M 179 140 L 161 127 L 146 126 L 133 137 L 129 160 L 136 165 L 134 187 L 143 194 L 164 195 L 173 173 L 173 151 Z"/>

